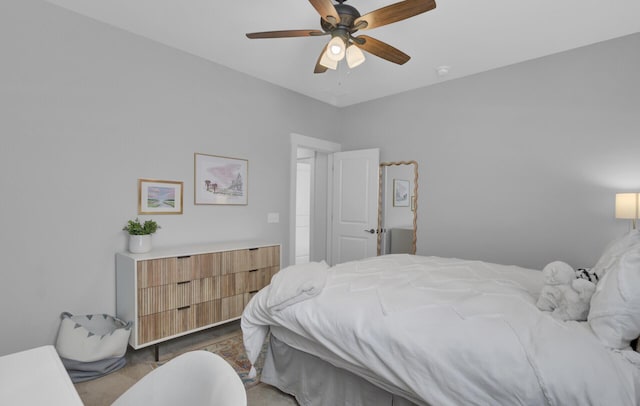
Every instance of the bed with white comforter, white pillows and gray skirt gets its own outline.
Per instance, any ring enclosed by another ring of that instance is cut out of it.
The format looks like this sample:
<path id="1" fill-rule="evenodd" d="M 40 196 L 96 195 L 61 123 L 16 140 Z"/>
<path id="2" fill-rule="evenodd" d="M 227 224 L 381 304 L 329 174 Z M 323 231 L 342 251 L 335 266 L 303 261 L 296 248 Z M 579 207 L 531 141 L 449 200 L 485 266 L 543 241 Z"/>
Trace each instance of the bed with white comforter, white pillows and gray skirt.
<path id="1" fill-rule="evenodd" d="M 301 405 L 640 404 L 632 237 L 596 264 L 588 322 L 540 311 L 542 273 L 517 266 L 397 254 L 289 267 L 243 313 L 247 355 L 269 336 L 261 380 Z"/>

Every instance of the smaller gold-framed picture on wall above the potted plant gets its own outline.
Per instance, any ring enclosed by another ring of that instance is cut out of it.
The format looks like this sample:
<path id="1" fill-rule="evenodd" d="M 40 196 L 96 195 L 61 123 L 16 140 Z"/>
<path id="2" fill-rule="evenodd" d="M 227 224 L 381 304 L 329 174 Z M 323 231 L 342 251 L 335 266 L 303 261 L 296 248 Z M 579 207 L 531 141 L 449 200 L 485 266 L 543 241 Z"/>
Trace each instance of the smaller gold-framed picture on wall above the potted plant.
<path id="1" fill-rule="evenodd" d="M 183 183 L 138 179 L 138 214 L 182 214 Z"/>

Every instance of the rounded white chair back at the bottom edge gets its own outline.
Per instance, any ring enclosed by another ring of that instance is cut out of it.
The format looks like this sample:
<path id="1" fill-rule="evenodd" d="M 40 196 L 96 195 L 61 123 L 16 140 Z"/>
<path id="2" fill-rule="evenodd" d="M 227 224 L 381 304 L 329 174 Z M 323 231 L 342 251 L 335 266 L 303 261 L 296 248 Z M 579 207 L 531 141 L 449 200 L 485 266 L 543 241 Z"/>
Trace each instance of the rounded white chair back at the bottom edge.
<path id="1" fill-rule="evenodd" d="M 231 365 L 208 351 L 191 351 L 154 369 L 112 406 L 246 406 L 242 380 Z"/>

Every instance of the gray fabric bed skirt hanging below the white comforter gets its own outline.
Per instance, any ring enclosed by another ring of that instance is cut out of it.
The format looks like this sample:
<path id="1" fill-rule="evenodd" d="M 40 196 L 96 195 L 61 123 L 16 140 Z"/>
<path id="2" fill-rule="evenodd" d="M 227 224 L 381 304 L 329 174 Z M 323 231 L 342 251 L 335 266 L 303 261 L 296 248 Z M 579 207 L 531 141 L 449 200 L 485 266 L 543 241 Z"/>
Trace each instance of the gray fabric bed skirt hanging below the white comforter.
<path id="1" fill-rule="evenodd" d="M 416 406 L 344 369 L 271 335 L 260 380 L 295 396 L 301 406 Z"/>

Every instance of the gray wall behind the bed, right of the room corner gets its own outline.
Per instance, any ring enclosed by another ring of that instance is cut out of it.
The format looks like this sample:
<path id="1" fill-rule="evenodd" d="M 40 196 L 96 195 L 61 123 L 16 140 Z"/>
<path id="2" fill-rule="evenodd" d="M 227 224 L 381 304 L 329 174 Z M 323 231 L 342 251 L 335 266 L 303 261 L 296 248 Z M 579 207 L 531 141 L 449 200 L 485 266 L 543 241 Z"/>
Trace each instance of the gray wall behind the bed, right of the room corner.
<path id="1" fill-rule="evenodd" d="M 591 265 L 640 189 L 640 34 L 343 109 L 343 149 L 419 163 L 418 254 Z"/>

